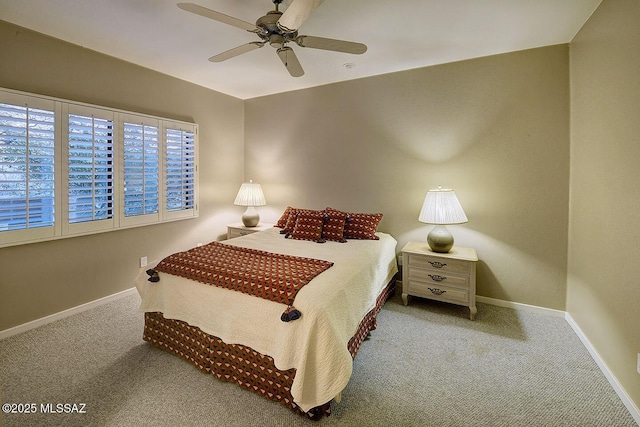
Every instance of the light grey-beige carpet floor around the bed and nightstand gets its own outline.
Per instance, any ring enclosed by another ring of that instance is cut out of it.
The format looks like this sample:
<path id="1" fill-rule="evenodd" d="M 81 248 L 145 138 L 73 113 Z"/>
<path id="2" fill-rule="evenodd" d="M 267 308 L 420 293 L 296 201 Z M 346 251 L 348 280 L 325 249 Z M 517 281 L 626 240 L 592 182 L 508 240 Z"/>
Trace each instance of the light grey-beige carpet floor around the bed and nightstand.
<path id="1" fill-rule="evenodd" d="M 470 321 L 465 307 L 405 307 L 396 291 L 342 402 L 313 422 L 143 342 L 138 305 L 127 296 L 0 341 L 0 401 L 35 404 L 0 425 L 637 426 L 561 318 L 479 304 Z"/>

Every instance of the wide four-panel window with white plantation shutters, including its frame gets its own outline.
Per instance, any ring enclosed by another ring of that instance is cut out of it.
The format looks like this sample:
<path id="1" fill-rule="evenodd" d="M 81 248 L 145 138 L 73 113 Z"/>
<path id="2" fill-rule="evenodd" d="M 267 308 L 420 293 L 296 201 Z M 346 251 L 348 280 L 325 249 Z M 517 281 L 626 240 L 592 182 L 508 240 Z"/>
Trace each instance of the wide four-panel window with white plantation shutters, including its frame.
<path id="1" fill-rule="evenodd" d="M 196 216 L 197 125 L 0 88 L 0 247 Z"/>

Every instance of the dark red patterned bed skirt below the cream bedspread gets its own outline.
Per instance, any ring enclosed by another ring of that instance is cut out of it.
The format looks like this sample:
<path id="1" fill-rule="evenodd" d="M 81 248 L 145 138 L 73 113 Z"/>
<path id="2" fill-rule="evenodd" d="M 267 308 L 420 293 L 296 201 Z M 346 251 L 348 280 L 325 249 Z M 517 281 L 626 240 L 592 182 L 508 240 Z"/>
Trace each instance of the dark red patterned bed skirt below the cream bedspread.
<path id="1" fill-rule="evenodd" d="M 364 316 L 355 335 L 349 340 L 348 349 L 352 358 L 356 357 L 369 332 L 376 328 L 376 316 L 394 290 L 395 277 L 378 295 L 375 307 Z M 180 320 L 166 319 L 158 312 L 145 313 L 143 339 L 175 353 L 202 372 L 212 374 L 221 381 L 236 383 L 309 418 L 317 420 L 331 413 L 330 401 L 309 412 L 302 411 L 291 396 L 296 370 L 281 371 L 275 367 L 271 357 L 250 347 L 226 344 L 198 327 Z"/>

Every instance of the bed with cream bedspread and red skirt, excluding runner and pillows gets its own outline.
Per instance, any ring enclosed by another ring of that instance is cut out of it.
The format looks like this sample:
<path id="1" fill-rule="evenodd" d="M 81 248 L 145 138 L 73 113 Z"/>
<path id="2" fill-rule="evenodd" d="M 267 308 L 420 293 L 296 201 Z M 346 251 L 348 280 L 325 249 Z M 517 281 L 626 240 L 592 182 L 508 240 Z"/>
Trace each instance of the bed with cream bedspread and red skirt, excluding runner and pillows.
<path id="1" fill-rule="evenodd" d="M 217 244 L 331 263 L 298 290 L 298 319 L 283 321 L 288 310 L 281 302 L 162 271 L 151 282 L 141 271 L 143 339 L 220 380 L 319 418 L 339 401 L 353 358 L 393 292 L 397 242 L 381 232 L 378 240 L 323 243 L 281 233 L 272 228 Z"/>

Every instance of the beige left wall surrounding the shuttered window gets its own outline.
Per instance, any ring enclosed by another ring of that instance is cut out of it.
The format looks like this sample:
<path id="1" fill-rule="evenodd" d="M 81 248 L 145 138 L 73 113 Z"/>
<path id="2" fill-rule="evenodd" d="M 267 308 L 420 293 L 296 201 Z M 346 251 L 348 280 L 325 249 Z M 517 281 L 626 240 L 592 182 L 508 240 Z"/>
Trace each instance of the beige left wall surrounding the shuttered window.
<path id="1" fill-rule="evenodd" d="M 242 213 L 241 100 L 0 21 L 0 87 L 198 123 L 200 217 L 0 249 L 0 330 L 129 289 L 139 258 L 215 240 Z"/>

